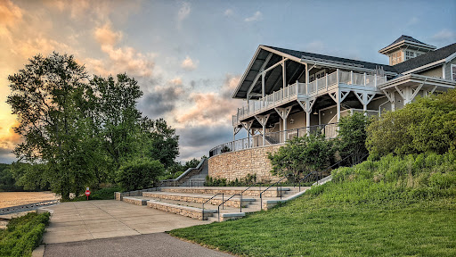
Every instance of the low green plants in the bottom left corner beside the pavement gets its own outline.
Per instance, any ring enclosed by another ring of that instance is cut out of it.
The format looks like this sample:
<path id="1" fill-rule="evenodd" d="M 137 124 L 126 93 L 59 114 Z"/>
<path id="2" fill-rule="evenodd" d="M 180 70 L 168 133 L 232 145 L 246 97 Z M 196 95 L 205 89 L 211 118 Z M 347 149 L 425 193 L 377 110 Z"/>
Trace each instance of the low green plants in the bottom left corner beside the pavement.
<path id="1" fill-rule="evenodd" d="M 0 232 L 0 256 L 31 256 L 41 242 L 49 213 L 28 213 L 10 220 L 6 230 Z"/>

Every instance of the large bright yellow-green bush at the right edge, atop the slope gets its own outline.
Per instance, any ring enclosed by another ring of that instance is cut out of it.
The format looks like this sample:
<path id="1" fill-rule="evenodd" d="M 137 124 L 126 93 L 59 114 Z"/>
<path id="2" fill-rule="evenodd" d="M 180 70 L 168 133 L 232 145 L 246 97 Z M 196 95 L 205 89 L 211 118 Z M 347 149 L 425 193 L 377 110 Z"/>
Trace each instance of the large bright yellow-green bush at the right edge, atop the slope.
<path id="1" fill-rule="evenodd" d="M 367 129 L 372 157 L 388 153 L 446 153 L 456 148 L 456 90 L 417 97 L 403 109 L 387 112 Z"/>

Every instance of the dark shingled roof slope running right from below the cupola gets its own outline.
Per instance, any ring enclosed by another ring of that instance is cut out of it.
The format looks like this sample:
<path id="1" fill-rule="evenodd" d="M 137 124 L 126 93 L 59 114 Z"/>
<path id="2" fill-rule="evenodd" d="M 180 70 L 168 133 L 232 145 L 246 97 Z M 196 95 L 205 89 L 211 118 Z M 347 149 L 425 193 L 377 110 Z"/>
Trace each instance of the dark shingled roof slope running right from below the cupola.
<path id="1" fill-rule="evenodd" d="M 433 62 L 444 60 L 445 58 L 449 57 L 454 53 L 456 53 L 456 43 L 450 46 L 444 46 L 442 48 L 437 49 L 436 51 L 431 51 L 428 54 L 419 55 L 418 57 L 412 58 L 405 62 L 397 63 L 393 67 L 395 68 L 395 70 L 397 70 L 398 73 L 403 73 L 408 70 L 414 70 Z"/>

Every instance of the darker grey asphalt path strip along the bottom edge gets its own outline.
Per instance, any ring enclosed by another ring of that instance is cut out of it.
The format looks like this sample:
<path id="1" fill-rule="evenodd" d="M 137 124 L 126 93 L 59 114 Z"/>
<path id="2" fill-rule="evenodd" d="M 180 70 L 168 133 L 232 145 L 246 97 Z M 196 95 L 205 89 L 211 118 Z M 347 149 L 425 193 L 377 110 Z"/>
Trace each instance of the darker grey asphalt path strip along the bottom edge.
<path id="1" fill-rule="evenodd" d="M 200 245 L 183 242 L 165 233 L 104 238 L 91 241 L 45 245 L 45 257 L 66 256 L 232 256 Z"/>

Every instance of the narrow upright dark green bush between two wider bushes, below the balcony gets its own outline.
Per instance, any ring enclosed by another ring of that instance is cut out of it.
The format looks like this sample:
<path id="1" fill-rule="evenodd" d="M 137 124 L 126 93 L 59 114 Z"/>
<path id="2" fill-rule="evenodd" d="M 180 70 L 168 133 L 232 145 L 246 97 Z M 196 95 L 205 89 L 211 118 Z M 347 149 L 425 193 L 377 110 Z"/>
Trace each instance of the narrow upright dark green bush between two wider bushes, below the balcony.
<path id="1" fill-rule="evenodd" d="M 360 112 L 354 112 L 352 115 L 342 117 L 338 122 L 338 146 L 339 154 L 342 158 L 349 155 L 351 165 L 361 161 L 361 158 L 368 153 L 366 149 L 366 129 L 369 125 L 369 119 Z"/>

